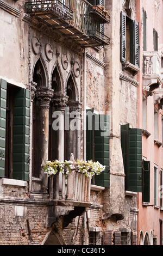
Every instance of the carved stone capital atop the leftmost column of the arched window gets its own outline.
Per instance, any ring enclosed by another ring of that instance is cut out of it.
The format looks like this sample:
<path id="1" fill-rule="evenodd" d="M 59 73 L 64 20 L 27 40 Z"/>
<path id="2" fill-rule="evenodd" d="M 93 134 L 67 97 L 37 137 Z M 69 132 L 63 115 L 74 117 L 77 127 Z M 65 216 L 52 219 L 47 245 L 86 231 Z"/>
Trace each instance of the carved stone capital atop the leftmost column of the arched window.
<path id="1" fill-rule="evenodd" d="M 53 89 L 40 88 L 35 93 L 37 100 L 40 101 L 40 108 L 49 108 L 49 103 L 53 97 Z"/>

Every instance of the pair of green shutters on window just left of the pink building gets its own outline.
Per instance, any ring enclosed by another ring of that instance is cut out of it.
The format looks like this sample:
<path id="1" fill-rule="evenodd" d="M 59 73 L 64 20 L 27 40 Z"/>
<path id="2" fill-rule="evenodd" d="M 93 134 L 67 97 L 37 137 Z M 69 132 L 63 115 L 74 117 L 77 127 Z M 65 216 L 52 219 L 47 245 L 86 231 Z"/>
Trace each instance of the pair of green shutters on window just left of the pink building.
<path id="1" fill-rule="evenodd" d="M 142 192 L 142 131 L 121 125 L 121 148 L 125 172 L 125 189 Z"/>

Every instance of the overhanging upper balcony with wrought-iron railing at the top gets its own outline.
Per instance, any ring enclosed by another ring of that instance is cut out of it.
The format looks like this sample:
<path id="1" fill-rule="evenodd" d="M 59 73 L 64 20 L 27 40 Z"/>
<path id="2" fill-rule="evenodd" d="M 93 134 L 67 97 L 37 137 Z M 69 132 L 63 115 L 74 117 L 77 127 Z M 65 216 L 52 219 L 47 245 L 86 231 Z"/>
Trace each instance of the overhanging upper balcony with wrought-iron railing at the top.
<path id="1" fill-rule="evenodd" d="M 26 3 L 26 10 L 31 16 L 81 47 L 103 46 L 110 43 L 108 36 L 101 31 L 101 25 L 109 23 L 109 15 L 93 8 L 86 0 L 29 0 Z"/>

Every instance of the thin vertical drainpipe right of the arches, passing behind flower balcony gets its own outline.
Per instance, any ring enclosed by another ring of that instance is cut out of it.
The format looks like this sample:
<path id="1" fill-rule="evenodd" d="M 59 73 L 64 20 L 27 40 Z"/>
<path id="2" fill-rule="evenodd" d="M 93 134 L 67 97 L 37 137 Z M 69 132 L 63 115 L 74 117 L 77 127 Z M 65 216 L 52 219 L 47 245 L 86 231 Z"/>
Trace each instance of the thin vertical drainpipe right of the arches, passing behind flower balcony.
<path id="1" fill-rule="evenodd" d="M 86 50 L 84 48 L 84 59 L 83 59 L 83 157 L 86 161 Z M 83 235 L 83 245 L 85 245 L 85 231 L 86 231 L 86 212 L 84 212 L 84 235 Z"/>

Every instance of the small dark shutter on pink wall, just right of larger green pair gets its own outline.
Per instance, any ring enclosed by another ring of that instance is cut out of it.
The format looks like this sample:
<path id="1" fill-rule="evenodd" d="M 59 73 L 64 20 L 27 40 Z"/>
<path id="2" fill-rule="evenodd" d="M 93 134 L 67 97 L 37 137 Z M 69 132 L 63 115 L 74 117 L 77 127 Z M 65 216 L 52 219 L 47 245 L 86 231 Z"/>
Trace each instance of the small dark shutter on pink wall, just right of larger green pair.
<path id="1" fill-rule="evenodd" d="M 150 202 L 150 162 L 142 160 L 142 202 Z"/>

